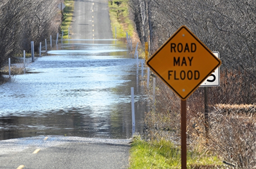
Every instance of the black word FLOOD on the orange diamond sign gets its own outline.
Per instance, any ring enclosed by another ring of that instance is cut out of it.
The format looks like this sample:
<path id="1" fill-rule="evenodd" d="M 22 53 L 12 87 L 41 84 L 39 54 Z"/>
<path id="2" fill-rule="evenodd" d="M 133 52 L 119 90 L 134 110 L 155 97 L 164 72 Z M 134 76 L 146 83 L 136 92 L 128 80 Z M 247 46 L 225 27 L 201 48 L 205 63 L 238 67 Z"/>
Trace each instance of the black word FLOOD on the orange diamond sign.
<path id="1" fill-rule="evenodd" d="M 200 78 L 200 73 L 198 70 L 188 70 L 187 72 L 185 70 L 182 70 L 180 72 L 176 71 L 176 70 L 169 70 L 168 71 L 168 80 L 170 80 L 170 78 L 173 78 L 174 80 L 198 80 Z"/>

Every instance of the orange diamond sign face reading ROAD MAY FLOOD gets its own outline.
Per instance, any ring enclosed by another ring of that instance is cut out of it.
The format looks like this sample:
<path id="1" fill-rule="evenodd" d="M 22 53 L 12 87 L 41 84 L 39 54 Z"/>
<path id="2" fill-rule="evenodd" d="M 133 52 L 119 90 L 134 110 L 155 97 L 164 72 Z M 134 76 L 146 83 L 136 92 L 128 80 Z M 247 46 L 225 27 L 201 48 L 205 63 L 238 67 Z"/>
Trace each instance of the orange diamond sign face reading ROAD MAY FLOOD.
<path id="1" fill-rule="evenodd" d="M 187 100 L 221 61 L 186 26 L 181 26 L 146 64 L 182 100 Z"/>

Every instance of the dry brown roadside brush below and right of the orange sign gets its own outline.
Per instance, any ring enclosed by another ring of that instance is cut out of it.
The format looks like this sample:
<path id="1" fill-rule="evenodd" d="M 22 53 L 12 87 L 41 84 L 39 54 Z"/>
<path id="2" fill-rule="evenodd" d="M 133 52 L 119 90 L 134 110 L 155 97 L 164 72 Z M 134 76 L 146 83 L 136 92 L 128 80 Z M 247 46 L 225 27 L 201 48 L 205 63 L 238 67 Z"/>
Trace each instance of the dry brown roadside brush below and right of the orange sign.
<path id="1" fill-rule="evenodd" d="M 170 140 L 180 143 L 180 99 L 169 87 L 156 77 L 155 103 L 152 104 L 152 78 L 146 89 L 145 77 L 141 85 L 145 87 L 151 111 L 145 113 L 146 141 Z M 224 161 L 223 166 L 232 168 L 252 168 L 255 164 L 256 147 L 256 105 L 255 104 L 215 104 L 210 106 L 209 135 L 206 137 L 203 89 L 193 94 L 187 105 L 187 142 L 189 149 L 203 156 L 211 154 Z"/>

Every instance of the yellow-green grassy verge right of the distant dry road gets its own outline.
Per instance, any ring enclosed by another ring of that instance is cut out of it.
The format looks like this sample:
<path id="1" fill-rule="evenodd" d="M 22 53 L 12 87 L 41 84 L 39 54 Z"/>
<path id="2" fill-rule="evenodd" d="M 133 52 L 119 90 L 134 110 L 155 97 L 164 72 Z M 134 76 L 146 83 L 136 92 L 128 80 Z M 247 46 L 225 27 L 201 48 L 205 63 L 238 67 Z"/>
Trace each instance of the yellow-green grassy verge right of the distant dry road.
<path id="1" fill-rule="evenodd" d="M 109 8 L 113 38 L 115 38 L 115 27 L 117 39 L 126 38 L 126 32 L 133 36 L 134 27 L 129 18 L 128 0 L 110 0 Z"/>

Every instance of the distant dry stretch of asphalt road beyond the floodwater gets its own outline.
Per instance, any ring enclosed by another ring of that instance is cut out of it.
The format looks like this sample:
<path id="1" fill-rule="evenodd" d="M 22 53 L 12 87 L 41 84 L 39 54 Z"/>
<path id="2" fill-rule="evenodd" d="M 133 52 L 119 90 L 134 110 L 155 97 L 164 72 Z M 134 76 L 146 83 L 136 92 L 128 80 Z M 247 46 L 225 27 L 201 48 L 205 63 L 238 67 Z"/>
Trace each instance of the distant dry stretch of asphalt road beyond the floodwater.
<path id="1" fill-rule="evenodd" d="M 108 0 L 76 0 L 71 39 L 113 39 Z"/>

